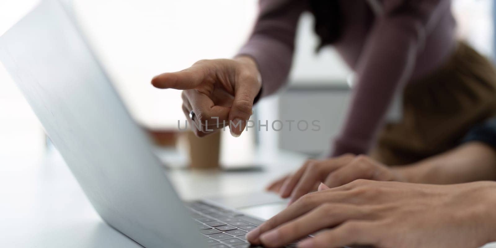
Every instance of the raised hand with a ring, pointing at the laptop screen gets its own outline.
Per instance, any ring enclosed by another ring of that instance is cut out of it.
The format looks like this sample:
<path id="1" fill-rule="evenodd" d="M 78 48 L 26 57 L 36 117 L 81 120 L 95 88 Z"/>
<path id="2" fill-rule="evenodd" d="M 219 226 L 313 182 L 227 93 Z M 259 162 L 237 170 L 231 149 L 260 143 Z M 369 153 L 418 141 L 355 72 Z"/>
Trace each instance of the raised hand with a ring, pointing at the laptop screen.
<path id="1" fill-rule="evenodd" d="M 183 111 L 199 137 L 224 124 L 229 125 L 233 136 L 241 135 L 261 88 L 258 69 L 249 57 L 201 60 L 182 71 L 155 76 L 152 84 L 161 89 L 183 90 Z M 193 120 L 189 118 L 191 111 Z"/>

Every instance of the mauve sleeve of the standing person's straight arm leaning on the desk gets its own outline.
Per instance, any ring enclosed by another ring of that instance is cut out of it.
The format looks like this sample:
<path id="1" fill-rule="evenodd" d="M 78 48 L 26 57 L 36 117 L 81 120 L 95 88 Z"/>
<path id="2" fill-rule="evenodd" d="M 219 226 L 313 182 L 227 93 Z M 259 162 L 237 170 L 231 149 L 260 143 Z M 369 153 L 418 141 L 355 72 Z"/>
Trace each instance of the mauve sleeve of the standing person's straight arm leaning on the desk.
<path id="1" fill-rule="evenodd" d="M 410 80 L 417 54 L 449 0 L 383 0 L 357 67 L 344 126 L 331 156 L 367 153 L 394 97 Z"/>

